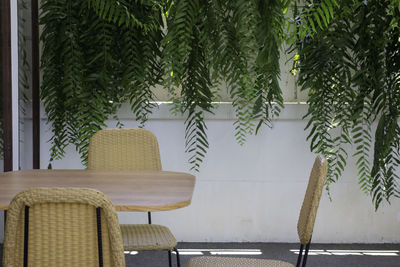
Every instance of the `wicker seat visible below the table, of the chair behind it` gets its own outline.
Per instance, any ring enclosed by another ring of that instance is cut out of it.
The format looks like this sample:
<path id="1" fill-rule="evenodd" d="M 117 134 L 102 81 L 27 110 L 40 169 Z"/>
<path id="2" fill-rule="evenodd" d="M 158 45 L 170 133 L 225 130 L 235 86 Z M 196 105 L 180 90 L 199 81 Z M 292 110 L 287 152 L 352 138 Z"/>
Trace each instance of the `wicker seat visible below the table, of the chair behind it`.
<path id="1" fill-rule="evenodd" d="M 121 224 L 125 250 L 172 250 L 177 242 L 171 231 L 157 224 Z"/>

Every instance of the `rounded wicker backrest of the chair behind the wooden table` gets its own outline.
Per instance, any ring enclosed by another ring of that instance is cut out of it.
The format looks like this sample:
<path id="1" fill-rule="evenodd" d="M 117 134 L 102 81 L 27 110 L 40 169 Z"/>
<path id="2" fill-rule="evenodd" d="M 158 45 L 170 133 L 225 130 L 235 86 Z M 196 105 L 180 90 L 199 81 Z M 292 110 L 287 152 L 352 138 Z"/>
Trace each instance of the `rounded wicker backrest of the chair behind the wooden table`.
<path id="1" fill-rule="evenodd" d="M 89 144 L 88 169 L 161 170 L 155 135 L 145 129 L 105 129 Z"/>

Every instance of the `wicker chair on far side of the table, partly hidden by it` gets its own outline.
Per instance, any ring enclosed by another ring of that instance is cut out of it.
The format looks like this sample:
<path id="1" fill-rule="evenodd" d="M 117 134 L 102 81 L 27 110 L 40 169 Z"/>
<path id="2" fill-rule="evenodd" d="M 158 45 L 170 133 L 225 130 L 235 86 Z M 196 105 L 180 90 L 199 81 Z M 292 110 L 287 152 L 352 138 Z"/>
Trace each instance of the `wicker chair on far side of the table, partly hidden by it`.
<path id="1" fill-rule="evenodd" d="M 90 170 L 161 170 L 157 138 L 145 129 L 100 130 L 90 140 L 88 169 Z M 171 252 L 176 252 L 180 267 L 177 241 L 171 231 L 162 225 L 121 225 L 125 250 L 167 250 L 169 266 Z"/>

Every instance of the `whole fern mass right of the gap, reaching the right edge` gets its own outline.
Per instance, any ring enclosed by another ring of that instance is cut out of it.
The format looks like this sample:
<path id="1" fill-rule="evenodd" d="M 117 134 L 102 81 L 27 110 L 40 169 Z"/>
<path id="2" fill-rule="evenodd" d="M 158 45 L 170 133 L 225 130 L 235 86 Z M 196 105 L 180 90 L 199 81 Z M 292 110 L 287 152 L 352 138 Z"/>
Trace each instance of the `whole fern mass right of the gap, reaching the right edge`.
<path id="1" fill-rule="evenodd" d="M 340 1 L 327 29 L 297 42 L 299 84 L 309 90 L 311 150 L 329 159 L 328 185 L 354 158 L 361 189 L 376 208 L 400 196 L 399 11 L 397 0 Z"/>

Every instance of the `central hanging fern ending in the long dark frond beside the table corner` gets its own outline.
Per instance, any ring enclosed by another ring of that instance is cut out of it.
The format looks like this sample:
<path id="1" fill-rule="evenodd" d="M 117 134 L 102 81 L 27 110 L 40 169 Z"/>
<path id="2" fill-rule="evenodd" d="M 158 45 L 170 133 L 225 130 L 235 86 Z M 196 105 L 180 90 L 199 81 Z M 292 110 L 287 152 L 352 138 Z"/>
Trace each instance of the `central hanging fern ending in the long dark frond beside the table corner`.
<path id="1" fill-rule="evenodd" d="M 209 145 L 204 113 L 211 112 L 213 100 L 203 36 L 205 11 L 200 8 L 200 1 L 176 1 L 168 13 L 168 34 L 164 39 L 163 60 L 169 76 L 166 85 L 174 103 L 179 103 L 177 107 L 187 114 L 185 146 L 191 168 L 196 171 Z M 176 94 L 178 88 L 180 95 Z"/>

